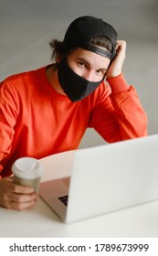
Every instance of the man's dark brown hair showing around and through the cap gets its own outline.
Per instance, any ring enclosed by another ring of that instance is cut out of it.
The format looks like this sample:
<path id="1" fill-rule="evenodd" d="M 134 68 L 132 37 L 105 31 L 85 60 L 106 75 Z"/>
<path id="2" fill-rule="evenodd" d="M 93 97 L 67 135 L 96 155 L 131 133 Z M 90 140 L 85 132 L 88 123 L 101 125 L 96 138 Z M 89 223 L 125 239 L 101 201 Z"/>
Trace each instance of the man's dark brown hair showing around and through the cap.
<path id="1" fill-rule="evenodd" d="M 112 50 L 111 40 L 108 37 L 94 37 L 90 40 L 90 44 L 102 48 L 106 48 L 108 51 Z M 67 57 L 68 54 L 77 47 L 72 47 L 66 44 L 64 41 L 59 41 L 58 39 L 52 39 L 49 42 L 49 46 L 52 49 L 51 60 L 55 59 L 56 63 L 54 69 L 58 69 L 57 55 L 59 59 Z"/>

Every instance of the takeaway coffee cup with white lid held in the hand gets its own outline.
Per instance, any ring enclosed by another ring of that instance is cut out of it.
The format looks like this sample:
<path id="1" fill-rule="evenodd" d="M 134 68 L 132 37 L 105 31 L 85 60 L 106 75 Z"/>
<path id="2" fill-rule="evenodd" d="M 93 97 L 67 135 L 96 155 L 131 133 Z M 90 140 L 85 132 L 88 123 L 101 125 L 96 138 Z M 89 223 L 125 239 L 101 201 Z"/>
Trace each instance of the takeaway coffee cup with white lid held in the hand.
<path id="1" fill-rule="evenodd" d="M 44 168 L 36 158 L 21 157 L 12 165 L 12 172 L 14 174 L 14 183 L 33 187 L 37 192 Z"/>

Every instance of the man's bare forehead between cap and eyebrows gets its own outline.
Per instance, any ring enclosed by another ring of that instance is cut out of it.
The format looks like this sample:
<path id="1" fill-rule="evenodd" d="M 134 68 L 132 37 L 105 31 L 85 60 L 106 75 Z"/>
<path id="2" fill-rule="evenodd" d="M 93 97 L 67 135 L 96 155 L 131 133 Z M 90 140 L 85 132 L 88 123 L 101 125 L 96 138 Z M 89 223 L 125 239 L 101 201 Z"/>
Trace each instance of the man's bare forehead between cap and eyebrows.
<path id="1" fill-rule="evenodd" d="M 101 69 L 107 69 L 109 66 L 111 60 L 100 56 L 97 53 L 94 53 L 90 50 L 84 49 L 84 48 L 75 48 L 71 51 L 71 53 L 68 55 L 69 60 L 85 60 L 88 64 L 91 65 L 99 65 Z"/>

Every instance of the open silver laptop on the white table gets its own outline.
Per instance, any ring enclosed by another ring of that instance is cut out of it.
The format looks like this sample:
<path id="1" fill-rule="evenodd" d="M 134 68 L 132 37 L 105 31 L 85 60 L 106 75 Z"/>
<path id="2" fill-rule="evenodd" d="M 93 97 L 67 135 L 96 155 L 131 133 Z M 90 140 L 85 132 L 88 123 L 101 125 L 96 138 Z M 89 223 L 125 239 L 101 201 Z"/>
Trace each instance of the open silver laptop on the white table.
<path id="1" fill-rule="evenodd" d="M 70 177 L 41 183 L 39 193 L 67 223 L 158 199 L 158 134 L 65 154 L 58 168 Z"/>

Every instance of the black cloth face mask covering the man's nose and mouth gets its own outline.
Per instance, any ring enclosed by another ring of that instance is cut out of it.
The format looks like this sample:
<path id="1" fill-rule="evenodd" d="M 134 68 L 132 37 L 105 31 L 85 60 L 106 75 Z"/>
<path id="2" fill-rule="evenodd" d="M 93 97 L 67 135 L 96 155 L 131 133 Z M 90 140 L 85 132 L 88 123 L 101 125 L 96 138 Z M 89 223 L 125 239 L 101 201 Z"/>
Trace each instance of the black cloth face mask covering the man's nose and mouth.
<path id="1" fill-rule="evenodd" d="M 86 98 L 99 87 L 102 80 L 93 82 L 83 79 L 68 67 L 66 58 L 58 65 L 58 81 L 70 101 L 76 102 Z"/>

